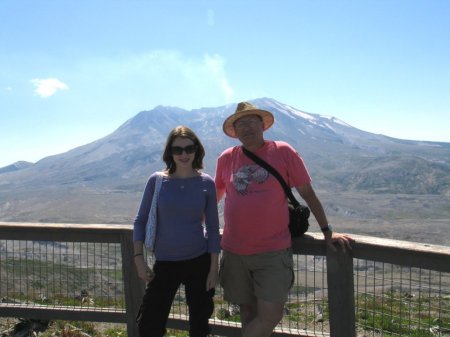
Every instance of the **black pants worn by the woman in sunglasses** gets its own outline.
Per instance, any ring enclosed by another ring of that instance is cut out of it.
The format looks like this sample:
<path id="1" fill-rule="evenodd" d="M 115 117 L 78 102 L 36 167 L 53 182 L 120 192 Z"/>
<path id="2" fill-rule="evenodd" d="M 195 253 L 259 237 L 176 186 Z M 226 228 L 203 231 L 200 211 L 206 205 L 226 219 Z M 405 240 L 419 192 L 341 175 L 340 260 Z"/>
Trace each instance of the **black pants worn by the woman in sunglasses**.
<path id="1" fill-rule="evenodd" d="M 147 284 L 137 318 L 140 337 L 164 336 L 170 308 L 181 283 L 189 308 L 190 337 L 206 337 L 210 333 L 208 320 L 214 311 L 214 289 L 206 291 L 210 263 L 210 254 L 191 260 L 155 262 L 155 278 Z"/>

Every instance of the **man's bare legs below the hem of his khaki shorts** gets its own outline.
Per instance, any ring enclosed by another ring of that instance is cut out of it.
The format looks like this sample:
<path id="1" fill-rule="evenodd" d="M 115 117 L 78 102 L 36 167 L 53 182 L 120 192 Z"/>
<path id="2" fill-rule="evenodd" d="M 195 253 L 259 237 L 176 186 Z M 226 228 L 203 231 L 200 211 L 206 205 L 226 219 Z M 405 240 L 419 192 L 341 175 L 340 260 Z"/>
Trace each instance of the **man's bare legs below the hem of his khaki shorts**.
<path id="1" fill-rule="evenodd" d="M 269 337 L 283 317 L 284 303 L 257 300 L 241 305 L 243 337 Z"/>

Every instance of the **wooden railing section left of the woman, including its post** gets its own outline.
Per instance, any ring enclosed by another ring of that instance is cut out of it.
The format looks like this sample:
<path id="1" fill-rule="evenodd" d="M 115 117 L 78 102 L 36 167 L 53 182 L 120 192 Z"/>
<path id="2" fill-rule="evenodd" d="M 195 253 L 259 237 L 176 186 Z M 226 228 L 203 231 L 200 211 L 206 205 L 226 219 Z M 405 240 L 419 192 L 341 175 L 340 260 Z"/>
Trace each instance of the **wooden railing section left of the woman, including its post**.
<path id="1" fill-rule="evenodd" d="M 57 242 L 118 243 L 121 247 L 125 310 L 104 308 L 74 308 L 71 306 L 0 305 L 0 316 L 36 319 L 84 320 L 93 322 L 122 322 L 127 324 L 128 336 L 138 336 L 137 315 L 143 284 L 137 276 L 133 261 L 132 227 L 124 225 L 82 225 L 0 222 L 0 240 L 29 240 Z"/>

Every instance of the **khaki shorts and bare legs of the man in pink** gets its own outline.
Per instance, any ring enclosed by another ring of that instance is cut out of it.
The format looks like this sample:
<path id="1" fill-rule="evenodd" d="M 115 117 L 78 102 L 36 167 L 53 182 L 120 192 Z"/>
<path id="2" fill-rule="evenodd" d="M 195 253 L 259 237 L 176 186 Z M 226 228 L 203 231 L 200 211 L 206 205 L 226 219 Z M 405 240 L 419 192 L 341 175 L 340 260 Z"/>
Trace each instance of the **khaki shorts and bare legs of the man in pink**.
<path id="1" fill-rule="evenodd" d="M 241 303 L 243 337 L 267 337 L 283 317 L 294 280 L 290 249 L 242 256 L 224 251 L 221 285 L 224 297 Z"/>

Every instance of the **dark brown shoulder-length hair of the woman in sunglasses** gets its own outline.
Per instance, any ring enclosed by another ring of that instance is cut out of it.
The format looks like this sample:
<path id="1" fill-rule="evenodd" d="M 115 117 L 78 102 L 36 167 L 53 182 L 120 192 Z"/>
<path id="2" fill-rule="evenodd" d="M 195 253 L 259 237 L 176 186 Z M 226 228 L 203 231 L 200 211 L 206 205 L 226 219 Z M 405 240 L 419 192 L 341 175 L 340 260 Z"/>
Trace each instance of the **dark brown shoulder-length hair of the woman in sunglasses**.
<path id="1" fill-rule="evenodd" d="M 203 147 L 200 139 L 197 137 L 194 131 L 184 125 L 177 126 L 170 131 L 167 136 L 166 147 L 164 148 L 163 161 L 166 163 L 166 170 L 170 173 L 174 173 L 177 169 L 175 161 L 172 157 L 172 143 L 177 137 L 188 138 L 194 142 L 196 147 L 195 157 L 192 161 L 192 168 L 200 170 L 203 168 L 203 158 L 205 157 L 205 148 Z"/>

